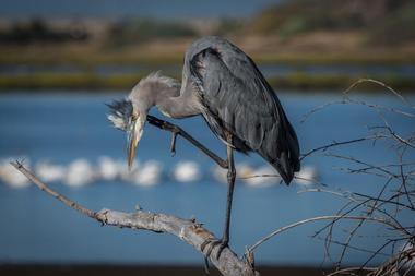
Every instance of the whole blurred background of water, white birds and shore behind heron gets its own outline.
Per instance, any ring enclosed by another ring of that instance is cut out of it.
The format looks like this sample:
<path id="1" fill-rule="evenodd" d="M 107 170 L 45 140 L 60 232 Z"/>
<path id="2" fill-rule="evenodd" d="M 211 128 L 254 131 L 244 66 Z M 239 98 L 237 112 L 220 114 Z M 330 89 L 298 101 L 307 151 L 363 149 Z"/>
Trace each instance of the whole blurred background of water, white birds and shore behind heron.
<path id="1" fill-rule="evenodd" d="M 205 35 L 224 36 L 252 57 L 278 94 L 304 153 L 334 140 L 364 136 L 368 125 L 381 121 L 368 108 L 344 105 L 303 122 L 313 108 L 341 100 L 342 92 L 358 79 L 379 80 L 415 99 L 413 0 L 3 0 L 0 272 L 40 271 L 38 265 L 52 265 L 60 273 L 72 272 L 73 265 L 96 265 L 90 267 L 96 272 L 103 265 L 116 265 L 118 269 L 170 267 L 170 273 L 171 267 L 194 267 L 195 275 L 203 274 L 202 256 L 177 238 L 100 228 L 29 185 L 9 161 L 23 160 L 55 189 L 93 209 L 132 212 L 139 204 L 152 212 L 194 216 L 218 236 L 226 172 L 181 139 L 171 157 L 169 134 L 146 125 L 138 165 L 129 173 L 124 133 L 111 128 L 105 106 L 124 97 L 153 71 L 180 80 L 187 47 Z M 402 108 L 399 98 L 378 85 L 363 84 L 354 96 Z M 152 113 L 162 117 L 156 110 Z M 398 115 L 388 120 L 403 133 L 414 127 L 413 120 Z M 201 118 L 177 123 L 225 155 L 224 145 Z M 381 143 L 339 151 L 375 164 L 396 158 Z M 240 176 L 274 173 L 254 154 L 236 158 Z M 278 184 L 278 178 L 239 179 L 233 249 L 242 253 L 273 229 L 333 214 L 344 202 L 328 194 L 299 193 L 316 182 L 369 194 L 378 191 L 371 185 L 374 177 L 344 173 L 339 169 L 344 165 L 327 156 L 310 156 L 300 177 L 313 181 L 297 180 L 290 187 Z M 256 252 L 258 265 L 269 267 L 270 275 L 282 267 L 317 267 L 317 273 L 321 266 L 330 267 L 323 242 L 310 238 L 316 229 L 316 225 L 297 228 L 263 244 Z M 364 242 L 370 248 L 377 239 Z M 333 251 L 334 256 L 340 254 L 339 249 Z M 345 264 L 366 259 L 367 254 L 353 252 Z"/>

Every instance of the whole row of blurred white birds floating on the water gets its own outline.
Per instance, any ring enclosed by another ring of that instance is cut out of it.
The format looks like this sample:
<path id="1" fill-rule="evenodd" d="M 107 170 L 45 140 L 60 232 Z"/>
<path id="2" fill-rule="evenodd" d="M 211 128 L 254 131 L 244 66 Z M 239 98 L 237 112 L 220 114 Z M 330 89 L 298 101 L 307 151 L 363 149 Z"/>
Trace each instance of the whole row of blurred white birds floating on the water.
<path id="1" fill-rule="evenodd" d="M 0 182 L 13 188 L 29 185 L 25 176 L 10 165 L 16 158 L 0 160 Z M 195 161 L 179 161 L 170 171 L 163 171 L 163 164 L 156 160 L 137 163 L 129 171 L 123 160 L 116 160 L 107 156 L 99 157 L 95 164 L 85 158 L 71 161 L 67 166 L 50 161 L 37 161 L 32 166 L 28 159 L 24 166 L 46 183 L 61 182 L 70 187 L 83 187 L 97 181 L 122 181 L 140 187 L 152 187 L 163 182 L 167 177 L 175 182 L 191 183 L 203 178 L 213 178 L 217 182 L 226 183 L 227 170 L 214 167 L 204 173 Z M 239 181 L 251 187 L 265 187 L 280 183 L 275 169 L 271 166 L 254 168 L 248 164 L 236 165 Z M 318 172 L 313 167 L 304 167 L 294 180 L 297 184 L 310 184 L 318 180 Z"/>

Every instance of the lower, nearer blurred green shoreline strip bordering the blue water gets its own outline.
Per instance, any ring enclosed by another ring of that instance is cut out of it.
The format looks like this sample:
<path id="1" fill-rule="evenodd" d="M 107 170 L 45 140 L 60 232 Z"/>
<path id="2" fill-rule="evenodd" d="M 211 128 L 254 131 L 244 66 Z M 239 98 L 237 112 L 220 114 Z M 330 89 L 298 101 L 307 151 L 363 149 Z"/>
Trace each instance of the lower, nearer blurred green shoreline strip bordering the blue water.
<path id="1" fill-rule="evenodd" d="M 123 91 L 133 87 L 144 75 L 98 75 L 94 73 L 34 73 L 27 75 L 0 75 L 0 94 L 17 89 L 27 89 L 31 93 L 44 92 L 45 89 L 70 89 L 91 92 L 98 91 Z M 179 75 L 174 77 L 180 80 Z M 354 82 L 366 76 L 339 75 L 339 74 L 304 74 L 292 73 L 284 76 L 268 77 L 268 82 L 277 89 L 345 91 Z M 411 76 L 386 75 L 372 77 L 402 93 L 415 93 L 415 79 Z M 356 92 L 383 93 L 384 88 L 372 83 L 361 83 L 355 88 Z"/>

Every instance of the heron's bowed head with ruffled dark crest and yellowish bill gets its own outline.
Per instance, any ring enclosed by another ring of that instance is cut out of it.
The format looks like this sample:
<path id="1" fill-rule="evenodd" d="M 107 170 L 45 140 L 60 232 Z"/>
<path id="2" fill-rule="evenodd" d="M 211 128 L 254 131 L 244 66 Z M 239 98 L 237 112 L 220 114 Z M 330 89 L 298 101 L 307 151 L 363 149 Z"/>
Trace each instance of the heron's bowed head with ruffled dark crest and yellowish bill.
<path id="1" fill-rule="evenodd" d="M 110 109 L 108 120 L 115 128 L 127 132 L 127 160 L 128 167 L 131 169 L 137 145 L 143 134 L 146 111 L 133 105 L 130 99 L 114 100 L 108 107 Z"/>

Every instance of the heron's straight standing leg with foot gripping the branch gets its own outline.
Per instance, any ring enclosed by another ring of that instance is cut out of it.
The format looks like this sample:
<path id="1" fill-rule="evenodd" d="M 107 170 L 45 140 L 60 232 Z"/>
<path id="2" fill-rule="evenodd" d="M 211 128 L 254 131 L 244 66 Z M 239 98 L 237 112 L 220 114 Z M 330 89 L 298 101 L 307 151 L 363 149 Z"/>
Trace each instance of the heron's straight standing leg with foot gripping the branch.
<path id="1" fill-rule="evenodd" d="M 235 163 L 234 163 L 234 149 L 230 146 L 232 144 L 232 135 L 227 135 L 227 164 L 228 164 L 228 172 L 227 172 L 227 197 L 226 197 L 226 216 L 225 216 L 225 228 L 221 240 L 206 240 L 202 243 L 201 250 L 204 251 L 205 247 L 210 244 L 206 256 L 211 255 L 211 252 L 214 247 L 220 245 L 220 248 L 216 251 L 216 259 L 221 256 L 221 253 L 224 248 L 228 245 L 229 242 L 229 228 L 230 228 L 230 211 L 232 211 L 232 200 L 234 195 L 234 187 L 235 187 L 235 177 L 236 177 L 236 170 L 235 170 Z"/>

